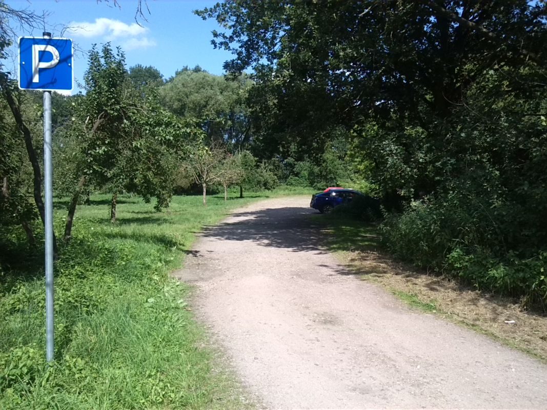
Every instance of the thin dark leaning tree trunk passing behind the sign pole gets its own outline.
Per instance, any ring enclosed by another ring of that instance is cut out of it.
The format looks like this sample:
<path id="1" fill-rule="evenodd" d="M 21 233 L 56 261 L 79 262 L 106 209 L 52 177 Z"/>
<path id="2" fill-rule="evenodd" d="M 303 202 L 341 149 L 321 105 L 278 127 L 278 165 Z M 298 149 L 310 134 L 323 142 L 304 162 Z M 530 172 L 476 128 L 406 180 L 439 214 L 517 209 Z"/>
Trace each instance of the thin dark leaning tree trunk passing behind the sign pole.
<path id="1" fill-rule="evenodd" d="M 28 127 L 25 125 L 25 122 L 23 121 L 23 116 L 21 115 L 18 104 L 15 103 L 15 99 L 13 98 L 13 94 L 9 89 L 9 85 L 2 83 L 2 89 L 4 90 L 4 96 L 6 101 L 8 102 L 11 114 L 13 114 L 13 118 L 17 123 L 19 131 L 21 131 L 21 133 L 23 134 L 23 138 L 25 139 L 25 147 L 27 149 L 28 160 L 30 160 L 31 162 L 34 177 L 34 202 L 36 203 L 36 208 L 38 208 L 38 213 L 40 214 L 42 225 L 45 226 L 45 208 L 44 201 L 42 200 L 42 172 L 40 171 L 40 164 L 36 156 L 36 151 L 34 151 L 34 147 L 32 145 L 32 135 Z M 53 253 L 56 258 L 57 239 L 55 237 L 55 232 L 53 233 Z"/>

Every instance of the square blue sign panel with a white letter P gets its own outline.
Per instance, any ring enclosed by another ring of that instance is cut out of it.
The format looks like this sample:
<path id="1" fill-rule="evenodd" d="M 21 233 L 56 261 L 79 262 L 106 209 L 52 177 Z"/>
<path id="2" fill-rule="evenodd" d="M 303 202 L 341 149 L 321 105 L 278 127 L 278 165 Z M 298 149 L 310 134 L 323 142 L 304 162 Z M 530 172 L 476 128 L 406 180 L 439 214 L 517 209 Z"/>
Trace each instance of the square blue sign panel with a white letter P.
<path id="1" fill-rule="evenodd" d="M 21 90 L 72 90 L 72 40 L 69 38 L 19 38 L 19 88 Z"/>

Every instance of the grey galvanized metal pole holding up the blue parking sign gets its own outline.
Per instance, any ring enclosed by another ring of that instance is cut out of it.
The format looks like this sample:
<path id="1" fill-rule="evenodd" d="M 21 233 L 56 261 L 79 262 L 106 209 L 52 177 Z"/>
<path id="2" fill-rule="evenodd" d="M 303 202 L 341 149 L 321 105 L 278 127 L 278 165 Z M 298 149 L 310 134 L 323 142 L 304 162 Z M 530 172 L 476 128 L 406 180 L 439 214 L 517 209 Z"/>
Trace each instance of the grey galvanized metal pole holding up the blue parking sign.
<path id="1" fill-rule="evenodd" d="M 51 33 L 43 33 L 51 38 Z M 51 154 L 51 91 L 44 91 L 44 196 L 45 196 L 45 358 L 54 356 L 53 293 L 53 161 Z"/>

